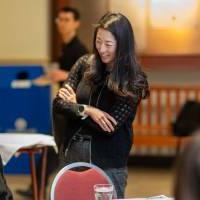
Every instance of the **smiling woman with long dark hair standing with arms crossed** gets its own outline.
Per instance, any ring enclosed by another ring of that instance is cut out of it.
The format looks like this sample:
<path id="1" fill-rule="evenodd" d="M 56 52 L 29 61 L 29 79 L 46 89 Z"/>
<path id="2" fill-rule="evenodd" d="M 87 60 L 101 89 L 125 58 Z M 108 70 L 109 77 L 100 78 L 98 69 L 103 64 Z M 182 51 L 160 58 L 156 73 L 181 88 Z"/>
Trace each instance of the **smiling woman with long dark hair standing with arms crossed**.
<path id="1" fill-rule="evenodd" d="M 148 95 L 130 22 L 120 13 L 104 15 L 94 32 L 93 54 L 73 66 L 53 108 L 68 116 L 61 148 L 65 162 L 87 161 L 102 168 L 118 198 L 124 197 L 127 181 L 132 122 L 140 100 Z"/>

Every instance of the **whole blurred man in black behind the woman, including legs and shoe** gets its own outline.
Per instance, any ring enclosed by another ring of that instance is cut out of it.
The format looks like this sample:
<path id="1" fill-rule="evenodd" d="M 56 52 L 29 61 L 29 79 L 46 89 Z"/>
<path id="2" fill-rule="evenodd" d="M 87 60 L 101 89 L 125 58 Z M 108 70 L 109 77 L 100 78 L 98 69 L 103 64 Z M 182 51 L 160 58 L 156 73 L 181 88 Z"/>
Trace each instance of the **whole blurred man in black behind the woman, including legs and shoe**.
<path id="1" fill-rule="evenodd" d="M 76 60 L 88 53 L 87 48 L 77 36 L 77 30 L 80 27 L 80 13 L 77 9 L 72 7 L 61 8 L 55 22 L 62 39 L 61 53 L 58 58 L 59 68 L 53 69 L 46 76 L 36 79 L 35 83 L 38 85 L 40 85 L 44 79 L 48 79 L 50 82 L 59 83 L 61 86 L 63 81 L 68 77 L 68 73 Z M 37 165 L 38 188 L 40 188 L 41 165 L 42 161 L 39 160 Z M 49 176 L 57 169 L 58 165 L 58 155 L 52 147 L 49 147 L 47 152 L 46 186 L 48 184 Z M 32 187 L 29 186 L 24 190 L 18 189 L 17 193 L 22 196 L 31 197 Z"/>

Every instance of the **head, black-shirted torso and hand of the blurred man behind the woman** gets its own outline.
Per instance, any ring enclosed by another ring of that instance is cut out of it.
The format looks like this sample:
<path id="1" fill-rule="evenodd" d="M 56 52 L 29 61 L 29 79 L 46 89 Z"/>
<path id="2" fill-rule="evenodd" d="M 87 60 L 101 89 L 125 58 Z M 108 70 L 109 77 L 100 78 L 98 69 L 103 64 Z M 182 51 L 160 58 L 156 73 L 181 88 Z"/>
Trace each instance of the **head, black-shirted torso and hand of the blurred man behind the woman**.
<path id="1" fill-rule="evenodd" d="M 63 82 L 78 58 L 88 53 L 85 45 L 79 40 L 77 30 L 80 27 L 80 14 L 77 9 L 63 7 L 56 18 L 58 32 L 62 39 L 62 50 L 58 58 L 59 69 L 53 69 L 49 77 L 53 82 Z"/>

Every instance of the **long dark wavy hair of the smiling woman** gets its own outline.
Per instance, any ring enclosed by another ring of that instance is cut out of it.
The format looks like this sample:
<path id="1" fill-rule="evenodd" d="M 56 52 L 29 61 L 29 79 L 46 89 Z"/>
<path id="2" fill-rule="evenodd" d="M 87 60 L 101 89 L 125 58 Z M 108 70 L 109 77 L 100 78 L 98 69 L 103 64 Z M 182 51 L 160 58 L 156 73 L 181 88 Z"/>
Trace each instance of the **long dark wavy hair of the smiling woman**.
<path id="1" fill-rule="evenodd" d="M 114 68 L 107 81 L 108 88 L 120 96 L 136 94 L 140 98 L 147 97 L 149 95 L 148 83 L 136 59 L 133 30 L 129 20 L 120 13 L 107 13 L 96 25 L 93 38 L 94 58 L 86 73 L 86 79 L 97 83 L 103 79 L 106 70 L 95 45 L 99 28 L 111 32 L 117 41 Z"/>

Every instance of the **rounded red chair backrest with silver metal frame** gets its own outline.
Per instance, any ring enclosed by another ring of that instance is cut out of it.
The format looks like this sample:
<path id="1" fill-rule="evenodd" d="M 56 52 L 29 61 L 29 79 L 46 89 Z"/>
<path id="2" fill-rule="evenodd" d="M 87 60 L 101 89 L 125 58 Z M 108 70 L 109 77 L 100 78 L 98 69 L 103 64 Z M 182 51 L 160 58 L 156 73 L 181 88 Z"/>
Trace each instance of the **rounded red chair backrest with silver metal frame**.
<path id="1" fill-rule="evenodd" d="M 74 171 L 84 167 L 86 170 Z M 52 183 L 51 200 L 93 200 L 95 184 L 112 184 L 99 167 L 85 162 L 76 162 L 62 168 Z M 116 192 L 114 197 L 116 198 Z"/>

